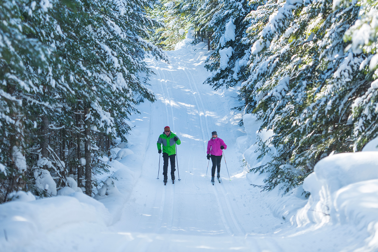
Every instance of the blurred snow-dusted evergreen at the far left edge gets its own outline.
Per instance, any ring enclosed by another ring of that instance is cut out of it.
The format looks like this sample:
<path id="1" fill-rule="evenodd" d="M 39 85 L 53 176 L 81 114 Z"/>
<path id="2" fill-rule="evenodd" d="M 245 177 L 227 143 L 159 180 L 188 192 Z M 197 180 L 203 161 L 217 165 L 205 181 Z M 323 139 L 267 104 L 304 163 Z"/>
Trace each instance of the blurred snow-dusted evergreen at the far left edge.
<path id="1" fill-rule="evenodd" d="M 28 102 L 38 92 L 39 71 L 47 67 L 48 46 L 37 40 L 27 16 L 48 6 L 31 1 L 0 3 L 0 201 L 26 184 L 26 158 L 35 121 L 29 116 Z M 40 20 L 38 20 L 40 21 Z M 31 36 L 30 36 L 31 35 Z"/>

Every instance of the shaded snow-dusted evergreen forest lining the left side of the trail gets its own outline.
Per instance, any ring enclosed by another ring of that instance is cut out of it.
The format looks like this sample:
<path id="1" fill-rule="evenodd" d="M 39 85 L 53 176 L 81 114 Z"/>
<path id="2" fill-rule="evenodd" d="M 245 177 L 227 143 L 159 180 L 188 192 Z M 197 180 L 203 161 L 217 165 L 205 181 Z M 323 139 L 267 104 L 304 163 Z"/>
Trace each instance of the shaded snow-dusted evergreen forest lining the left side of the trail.
<path id="1" fill-rule="evenodd" d="M 142 0 L 0 1 L 0 202 L 17 190 L 56 195 L 73 176 L 92 195 L 135 105 L 154 101 L 146 31 L 161 26 Z M 101 159 L 101 158 L 100 158 Z"/>

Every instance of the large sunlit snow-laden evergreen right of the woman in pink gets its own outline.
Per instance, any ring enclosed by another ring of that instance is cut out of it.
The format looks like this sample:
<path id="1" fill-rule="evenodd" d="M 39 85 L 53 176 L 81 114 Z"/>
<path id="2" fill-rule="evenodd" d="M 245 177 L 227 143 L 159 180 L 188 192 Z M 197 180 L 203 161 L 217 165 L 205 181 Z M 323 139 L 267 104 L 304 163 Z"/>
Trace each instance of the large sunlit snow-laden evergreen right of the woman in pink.
<path id="1" fill-rule="evenodd" d="M 258 36 L 251 33 L 251 75 L 242 97 L 246 111 L 275 133 L 269 140 L 276 149 L 273 161 L 251 169 L 270 174 L 266 188 L 281 184 L 287 192 L 322 157 L 352 151 L 352 109 L 373 80 L 366 71 L 370 56 L 344 41 L 359 11 L 356 3 L 332 8 L 327 0 L 287 1 L 277 5 Z M 266 144 L 260 143 L 263 155 L 271 154 Z"/>

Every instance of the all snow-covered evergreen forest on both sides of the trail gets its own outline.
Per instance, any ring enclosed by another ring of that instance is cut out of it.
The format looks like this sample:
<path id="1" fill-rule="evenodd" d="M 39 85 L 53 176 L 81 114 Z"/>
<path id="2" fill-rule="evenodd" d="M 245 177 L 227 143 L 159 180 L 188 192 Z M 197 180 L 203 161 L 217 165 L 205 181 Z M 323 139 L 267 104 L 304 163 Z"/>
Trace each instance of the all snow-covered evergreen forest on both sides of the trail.
<path id="1" fill-rule="evenodd" d="M 55 195 L 46 176 L 91 195 L 124 119 L 155 100 L 144 57 L 167 60 L 191 31 L 214 49 L 205 84 L 240 87 L 235 109 L 274 132 L 258 142 L 272 161 L 251 169 L 264 189 L 287 192 L 378 132 L 375 1 L 0 0 L 0 19 L 0 202 Z"/>

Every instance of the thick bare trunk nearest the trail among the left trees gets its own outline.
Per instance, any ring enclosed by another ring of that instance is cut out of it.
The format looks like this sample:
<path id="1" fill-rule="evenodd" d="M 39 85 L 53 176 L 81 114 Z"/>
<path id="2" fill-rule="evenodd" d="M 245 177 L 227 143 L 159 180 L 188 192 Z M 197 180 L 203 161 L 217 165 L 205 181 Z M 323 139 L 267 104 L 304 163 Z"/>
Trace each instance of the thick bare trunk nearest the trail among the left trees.
<path id="1" fill-rule="evenodd" d="M 92 196 L 92 167 L 91 167 L 91 122 L 89 106 L 84 106 L 84 135 L 85 135 L 85 194 Z"/>

